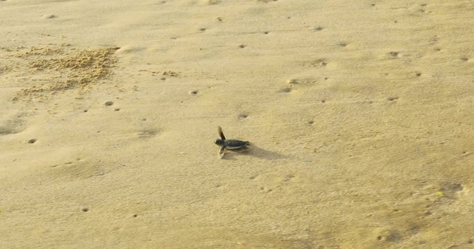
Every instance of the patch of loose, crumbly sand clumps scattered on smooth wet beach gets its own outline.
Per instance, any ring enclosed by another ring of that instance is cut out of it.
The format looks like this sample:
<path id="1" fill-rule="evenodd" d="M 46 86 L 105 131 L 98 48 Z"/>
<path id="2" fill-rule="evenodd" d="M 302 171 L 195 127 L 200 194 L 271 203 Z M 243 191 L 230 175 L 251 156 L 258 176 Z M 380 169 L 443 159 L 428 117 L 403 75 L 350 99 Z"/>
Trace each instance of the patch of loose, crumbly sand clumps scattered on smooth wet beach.
<path id="1" fill-rule="evenodd" d="M 90 89 L 112 73 L 117 47 L 75 48 L 74 46 L 32 46 L 4 49 L 15 57 L 3 71 L 13 71 L 24 84 L 15 100 L 46 98 L 58 91 Z M 26 85 L 26 86 L 24 86 Z"/>

